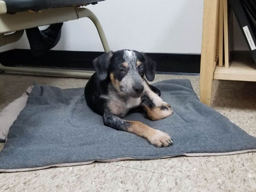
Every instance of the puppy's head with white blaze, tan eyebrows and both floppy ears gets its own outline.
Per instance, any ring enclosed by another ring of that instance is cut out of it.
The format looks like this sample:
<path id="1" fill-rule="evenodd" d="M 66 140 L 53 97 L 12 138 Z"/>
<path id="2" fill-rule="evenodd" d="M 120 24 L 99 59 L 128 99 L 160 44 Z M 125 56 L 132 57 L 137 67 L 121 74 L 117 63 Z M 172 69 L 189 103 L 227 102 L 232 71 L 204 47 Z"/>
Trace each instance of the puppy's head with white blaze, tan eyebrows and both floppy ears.
<path id="1" fill-rule="evenodd" d="M 144 76 L 154 80 L 156 65 L 144 53 L 132 50 L 110 51 L 93 60 L 100 80 L 109 77 L 119 94 L 134 98 L 144 94 Z"/>

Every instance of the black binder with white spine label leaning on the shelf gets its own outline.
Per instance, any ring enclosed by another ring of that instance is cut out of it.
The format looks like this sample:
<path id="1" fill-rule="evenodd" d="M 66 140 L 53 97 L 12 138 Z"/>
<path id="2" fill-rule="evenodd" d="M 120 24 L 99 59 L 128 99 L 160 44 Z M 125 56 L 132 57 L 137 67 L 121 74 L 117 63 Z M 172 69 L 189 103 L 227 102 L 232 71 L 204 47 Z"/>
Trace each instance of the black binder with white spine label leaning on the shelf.
<path id="1" fill-rule="evenodd" d="M 256 64 L 256 0 L 229 0 Z"/>

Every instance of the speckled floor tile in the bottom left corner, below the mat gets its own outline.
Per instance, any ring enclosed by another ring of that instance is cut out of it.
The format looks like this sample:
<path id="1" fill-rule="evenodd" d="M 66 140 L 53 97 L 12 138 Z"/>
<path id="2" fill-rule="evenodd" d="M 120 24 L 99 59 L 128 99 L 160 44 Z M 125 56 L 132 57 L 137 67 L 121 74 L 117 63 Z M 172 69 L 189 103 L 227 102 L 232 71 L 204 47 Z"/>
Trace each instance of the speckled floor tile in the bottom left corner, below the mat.
<path id="1" fill-rule="evenodd" d="M 0 191 L 145 191 L 152 172 L 93 163 L 32 172 L 1 173 Z"/>

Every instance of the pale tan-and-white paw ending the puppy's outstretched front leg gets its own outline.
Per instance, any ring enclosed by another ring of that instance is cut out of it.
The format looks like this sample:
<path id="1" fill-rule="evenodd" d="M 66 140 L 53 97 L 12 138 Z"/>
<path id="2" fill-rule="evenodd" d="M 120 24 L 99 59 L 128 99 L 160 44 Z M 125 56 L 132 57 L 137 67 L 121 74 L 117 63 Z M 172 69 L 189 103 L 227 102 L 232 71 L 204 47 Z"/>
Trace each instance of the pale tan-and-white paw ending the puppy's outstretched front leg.
<path id="1" fill-rule="evenodd" d="M 169 147 L 169 145 L 172 145 L 172 138 L 165 132 L 155 130 L 149 142 L 156 147 Z"/>

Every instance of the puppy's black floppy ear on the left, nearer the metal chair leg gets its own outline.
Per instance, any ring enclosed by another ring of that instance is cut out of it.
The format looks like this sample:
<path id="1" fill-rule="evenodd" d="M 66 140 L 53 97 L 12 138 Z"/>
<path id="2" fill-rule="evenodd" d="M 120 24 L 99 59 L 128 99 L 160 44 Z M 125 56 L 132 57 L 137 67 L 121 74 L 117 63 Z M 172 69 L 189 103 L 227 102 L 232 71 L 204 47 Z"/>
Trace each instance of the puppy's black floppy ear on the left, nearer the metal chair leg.
<path id="1" fill-rule="evenodd" d="M 108 76 L 108 67 L 113 55 L 113 52 L 109 51 L 93 60 L 93 67 L 101 81 L 105 80 Z"/>

